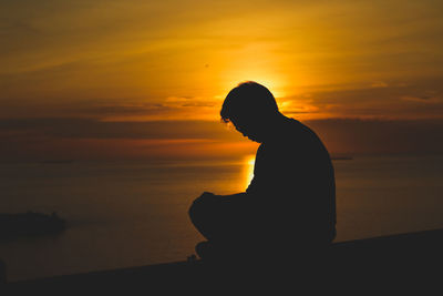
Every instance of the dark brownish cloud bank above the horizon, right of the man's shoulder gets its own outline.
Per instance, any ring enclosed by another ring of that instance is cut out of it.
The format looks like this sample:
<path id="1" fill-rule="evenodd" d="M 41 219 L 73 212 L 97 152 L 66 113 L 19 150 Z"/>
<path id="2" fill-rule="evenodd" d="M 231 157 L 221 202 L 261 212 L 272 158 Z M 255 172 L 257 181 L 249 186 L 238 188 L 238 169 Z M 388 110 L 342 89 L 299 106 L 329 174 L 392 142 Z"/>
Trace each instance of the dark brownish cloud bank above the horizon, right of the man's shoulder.
<path id="1" fill-rule="evenodd" d="M 334 153 L 443 153 L 443 120 L 307 121 Z"/>

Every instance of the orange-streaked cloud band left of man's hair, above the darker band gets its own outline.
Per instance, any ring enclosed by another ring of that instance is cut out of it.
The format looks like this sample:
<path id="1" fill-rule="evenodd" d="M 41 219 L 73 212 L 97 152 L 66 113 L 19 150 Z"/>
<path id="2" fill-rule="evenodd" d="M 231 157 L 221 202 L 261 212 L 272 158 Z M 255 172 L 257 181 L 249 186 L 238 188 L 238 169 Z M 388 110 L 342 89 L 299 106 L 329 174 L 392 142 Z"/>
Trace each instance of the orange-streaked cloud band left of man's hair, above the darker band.
<path id="1" fill-rule="evenodd" d="M 99 121 L 217 120 L 219 100 L 206 98 L 0 99 L 0 119 L 66 118 Z"/>

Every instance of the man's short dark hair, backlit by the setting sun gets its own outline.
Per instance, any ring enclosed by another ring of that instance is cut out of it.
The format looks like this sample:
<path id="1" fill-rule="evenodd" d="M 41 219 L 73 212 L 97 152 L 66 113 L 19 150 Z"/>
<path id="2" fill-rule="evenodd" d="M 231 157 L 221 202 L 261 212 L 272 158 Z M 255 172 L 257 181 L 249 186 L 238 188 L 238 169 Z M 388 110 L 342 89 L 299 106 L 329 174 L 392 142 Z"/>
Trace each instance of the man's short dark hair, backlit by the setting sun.
<path id="1" fill-rule="evenodd" d="M 247 81 L 233 89 L 223 103 L 220 116 L 224 122 L 231 118 L 249 114 L 268 116 L 278 113 L 278 106 L 272 93 L 264 85 Z"/>

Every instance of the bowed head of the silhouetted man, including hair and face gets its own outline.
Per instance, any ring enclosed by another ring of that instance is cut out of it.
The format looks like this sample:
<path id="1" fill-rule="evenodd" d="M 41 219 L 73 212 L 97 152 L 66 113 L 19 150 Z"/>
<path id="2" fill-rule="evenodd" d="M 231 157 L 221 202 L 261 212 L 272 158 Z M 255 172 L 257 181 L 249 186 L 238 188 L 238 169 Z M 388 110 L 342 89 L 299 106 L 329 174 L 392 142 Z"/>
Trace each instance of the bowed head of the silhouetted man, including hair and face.
<path id="1" fill-rule="evenodd" d="M 223 103 L 220 115 L 231 122 L 237 131 L 256 142 L 262 142 L 278 111 L 272 93 L 254 81 L 240 83 L 233 89 Z"/>

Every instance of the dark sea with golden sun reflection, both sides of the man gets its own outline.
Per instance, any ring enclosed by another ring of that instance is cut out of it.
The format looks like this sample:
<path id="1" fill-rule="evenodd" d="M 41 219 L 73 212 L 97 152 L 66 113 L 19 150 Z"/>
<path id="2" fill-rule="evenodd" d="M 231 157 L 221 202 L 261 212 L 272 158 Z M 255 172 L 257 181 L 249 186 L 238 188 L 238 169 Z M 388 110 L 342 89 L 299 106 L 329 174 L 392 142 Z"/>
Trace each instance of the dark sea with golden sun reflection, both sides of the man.
<path id="1" fill-rule="evenodd" d="M 338 236 L 443 227 L 443 156 L 334 161 Z M 10 280 L 183 261 L 203 237 L 187 208 L 204 191 L 246 188 L 233 162 L 1 163 L 1 213 L 56 212 L 58 236 L 0 241 Z"/>

